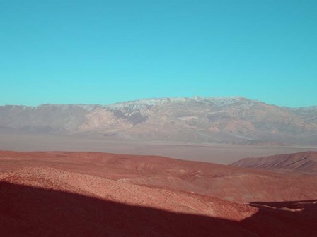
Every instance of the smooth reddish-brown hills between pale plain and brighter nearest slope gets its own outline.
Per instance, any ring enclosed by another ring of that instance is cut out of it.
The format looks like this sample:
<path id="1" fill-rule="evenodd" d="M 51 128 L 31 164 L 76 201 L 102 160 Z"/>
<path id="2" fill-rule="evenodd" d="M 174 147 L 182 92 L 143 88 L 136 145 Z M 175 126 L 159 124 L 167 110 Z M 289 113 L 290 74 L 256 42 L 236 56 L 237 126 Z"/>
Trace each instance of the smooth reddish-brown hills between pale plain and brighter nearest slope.
<path id="1" fill-rule="evenodd" d="M 285 176 L 270 171 L 167 157 L 93 152 L 0 152 L 0 162 L 2 172 L 49 167 L 121 183 L 194 192 L 235 202 L 317 198 L 317 176 Z"/>

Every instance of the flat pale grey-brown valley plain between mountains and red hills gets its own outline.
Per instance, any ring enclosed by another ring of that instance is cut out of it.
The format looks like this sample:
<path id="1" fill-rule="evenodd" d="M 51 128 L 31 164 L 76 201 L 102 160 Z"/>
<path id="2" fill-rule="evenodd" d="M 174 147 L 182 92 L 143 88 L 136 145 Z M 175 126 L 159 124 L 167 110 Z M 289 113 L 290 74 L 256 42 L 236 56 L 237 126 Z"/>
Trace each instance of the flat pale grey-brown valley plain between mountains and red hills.
<path id="1" fill-rule="evenodd" d="M 231 164 L 245 157 L 263 157 L 274 154 L 317 151 L 317 147 L 257 147 L 180 142 L 119 142 L 106 140 L 105 138 L 15 134 L 0 131 L 0 150 L 149 154 L 200 162 Z"/>

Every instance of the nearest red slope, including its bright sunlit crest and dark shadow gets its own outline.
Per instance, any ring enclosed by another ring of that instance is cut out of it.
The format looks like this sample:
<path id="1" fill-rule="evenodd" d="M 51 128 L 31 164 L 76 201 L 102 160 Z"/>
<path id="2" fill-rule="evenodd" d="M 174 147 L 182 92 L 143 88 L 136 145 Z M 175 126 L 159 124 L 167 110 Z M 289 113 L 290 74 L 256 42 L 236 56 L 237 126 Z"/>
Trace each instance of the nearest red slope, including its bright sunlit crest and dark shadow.
<path id="1" fill-rule="evenodd" d="M 68 164 L 65 157 L 59 158 Z M 21 157 L 13 159 L 19 164 Z M 110 161 L 120 163 L 120 159 Z M 88 162 L 86 167 L 91 169 Z M 243 205 L 49 167 L 2 173 L 0 196 L 1 236 L 308 237 L 316 233 L 315 200 Z"/>

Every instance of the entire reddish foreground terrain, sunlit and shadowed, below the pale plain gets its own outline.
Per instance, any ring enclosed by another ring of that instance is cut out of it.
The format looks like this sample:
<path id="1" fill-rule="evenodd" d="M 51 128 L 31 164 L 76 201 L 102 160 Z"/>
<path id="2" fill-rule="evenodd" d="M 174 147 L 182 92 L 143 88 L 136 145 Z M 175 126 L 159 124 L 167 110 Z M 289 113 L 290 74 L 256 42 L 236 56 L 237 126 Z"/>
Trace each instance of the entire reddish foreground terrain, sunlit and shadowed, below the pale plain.
<path id="1" fill-rule="evenodd" d="M 317 176 L 166 157 L 0 152 L 1 236 L 316 236 Z"/>

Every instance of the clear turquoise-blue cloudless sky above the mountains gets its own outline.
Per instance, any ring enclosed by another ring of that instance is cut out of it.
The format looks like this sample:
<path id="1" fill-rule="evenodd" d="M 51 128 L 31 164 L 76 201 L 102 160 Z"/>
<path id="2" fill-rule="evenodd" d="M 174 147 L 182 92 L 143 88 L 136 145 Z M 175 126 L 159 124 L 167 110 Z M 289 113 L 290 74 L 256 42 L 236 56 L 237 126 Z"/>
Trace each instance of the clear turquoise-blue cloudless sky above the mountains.
<path id="1" fill-rule="evenodd" d="M 317 105 L 316 0 L 0 0 L 0 104 Z"/>

